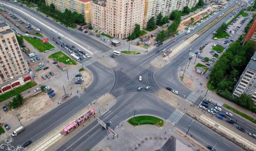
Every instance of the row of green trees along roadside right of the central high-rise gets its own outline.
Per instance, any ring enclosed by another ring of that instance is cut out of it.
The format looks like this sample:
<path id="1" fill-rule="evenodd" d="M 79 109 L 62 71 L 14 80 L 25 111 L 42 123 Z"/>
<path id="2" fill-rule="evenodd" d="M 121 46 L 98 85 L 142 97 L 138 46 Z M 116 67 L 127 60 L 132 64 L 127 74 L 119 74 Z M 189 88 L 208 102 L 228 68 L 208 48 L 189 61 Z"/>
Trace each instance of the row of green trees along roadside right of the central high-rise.
<path id="1" fill-rule="evenodd" d="M 168 29 L 165 31 L 165 30 L 162 30 L 161 32 L 159 32 L 156 36 L 156 39 L 155 41 L 158 41 L 158 42 L 163 42 L 165 41 L 167 38 L 169 38 L 170 36 L 174 35 L 175 32 L 177 31 L 178 29 L 178 26 L 180 25 L 181 23 L 181 12 L 178 11 L 178 10 L 174 10 L 170 17 L 169 17 L 170 20 L 173 20 L 173 23 L 168 27 Z"/>

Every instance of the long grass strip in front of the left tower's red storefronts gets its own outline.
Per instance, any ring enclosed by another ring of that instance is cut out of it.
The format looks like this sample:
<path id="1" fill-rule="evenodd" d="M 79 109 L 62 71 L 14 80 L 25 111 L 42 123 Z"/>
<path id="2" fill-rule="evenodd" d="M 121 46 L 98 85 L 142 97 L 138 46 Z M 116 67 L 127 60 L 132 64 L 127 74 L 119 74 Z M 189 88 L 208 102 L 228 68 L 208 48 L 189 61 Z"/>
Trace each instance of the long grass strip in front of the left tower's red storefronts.
<path id="1" fill-rule="evenodd" d="M 23 91 L 26 91 L 29 88 L 32 88 L 33 86 L 37 85 L 37 83 L 35 83 L 34 81 L 28 82 L 25 85 L 19 86 L 17 88 L 15 88 L 14 90 L 5 92 L 4 94 L 0 95 L 0 102 L 5 101 Z"/>

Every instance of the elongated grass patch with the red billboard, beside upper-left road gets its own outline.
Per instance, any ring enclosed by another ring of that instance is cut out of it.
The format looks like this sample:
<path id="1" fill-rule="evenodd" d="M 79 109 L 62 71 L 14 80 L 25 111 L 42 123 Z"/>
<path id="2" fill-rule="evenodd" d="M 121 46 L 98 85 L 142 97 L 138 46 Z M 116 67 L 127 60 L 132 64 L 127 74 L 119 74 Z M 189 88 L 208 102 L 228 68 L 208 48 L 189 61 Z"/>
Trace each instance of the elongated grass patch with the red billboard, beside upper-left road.
<path id="1" fill-rule="evenodd" d="M 55 48 L 51 43 L 45 42 L 42 43 L 41 40 L 22 36 L 27 42 L 31 43 L 38 51 L 44 52 L 45 50 L 50 50 L 51 48 Z"/>

